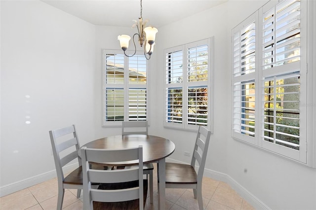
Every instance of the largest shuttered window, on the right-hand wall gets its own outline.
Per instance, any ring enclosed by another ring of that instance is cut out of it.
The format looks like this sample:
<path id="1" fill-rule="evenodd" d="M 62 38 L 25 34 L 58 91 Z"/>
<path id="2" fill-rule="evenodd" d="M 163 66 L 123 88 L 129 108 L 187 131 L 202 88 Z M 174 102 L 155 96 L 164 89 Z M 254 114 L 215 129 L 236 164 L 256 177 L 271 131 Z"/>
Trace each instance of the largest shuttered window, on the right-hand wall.
<path id="1" fill-rule="evenodd" d="M 307 163 L 306 2 L 268 2 L 232 30 L 232 135 Z"/>

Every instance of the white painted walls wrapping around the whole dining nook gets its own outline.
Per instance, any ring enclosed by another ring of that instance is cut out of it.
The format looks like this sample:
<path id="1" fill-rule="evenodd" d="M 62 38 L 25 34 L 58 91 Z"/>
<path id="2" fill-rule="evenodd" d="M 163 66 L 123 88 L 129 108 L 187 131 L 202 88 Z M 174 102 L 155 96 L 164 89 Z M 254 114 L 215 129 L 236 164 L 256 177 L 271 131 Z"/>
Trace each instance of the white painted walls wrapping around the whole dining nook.
<path id="1" fill-rule="evenodd" d="M 256 209 L 316 209 L 315 169 L 230 135 L 231 29 L 265 2 L 228 1 L 158 29 L 149 72 L 149 132 L 175 142 L 172 160 L 190 162 L 183 151 L 192 151 L 196 134 L 163 127 L 163 49 L 214 36 L 215 124 L 205 175 L 229 182 Z M 3 188 L 54 170 L 48 130 L 76 124 L 81 144 L 120 133 L 119 128 L 101 127 L 102 49 L 119 49 L 117 35 L 134 31 L 92 26 L 39 1 L 0 4 Z M 21 169 L 25 172 L 19 173 Z"/>

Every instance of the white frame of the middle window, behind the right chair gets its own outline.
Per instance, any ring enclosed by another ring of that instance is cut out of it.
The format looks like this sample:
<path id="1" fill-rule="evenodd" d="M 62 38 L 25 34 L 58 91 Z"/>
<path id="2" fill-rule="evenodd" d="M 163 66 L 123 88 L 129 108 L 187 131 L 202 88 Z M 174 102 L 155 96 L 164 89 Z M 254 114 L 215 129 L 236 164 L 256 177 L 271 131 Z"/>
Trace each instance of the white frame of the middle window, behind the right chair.
<path id="1" fill-rule="evenodd" d="M 207 66 L 207 74 L 208 78 L 207 81 L 192 81 L 189 82 L 188 77 L 188 49 L 207 45 L 208 51 L 208 66 Z M 214 69 L 214 37 L 202 39 L 199 41 L 170 47 L 164 49 L 164 56 L 163 56 L 163 63 L 164 67 L 166 68 L 166 55 L 168 53 L 174 53 L 182 51 L 182 82 L 180 83 L 167 83 L 166 77 L 166 69 L 164 72 L 164 127 L 172 128 L 172 129 L 181 129 L 181 130 L 193 130 L 197 131 L 198 125 L 191 125 L 188 123 L 188 89 L 190 87 L 206 87 L 207 88 L 207 127 L 211 132 L 213 132 L 213 116 L 214 116 L 214 103 L 213 103 L 213 96 L 214 96 L 214 88 L 213 88 L 213 69 Z M 168 106 L 168 97 L 166 96 L 168 88 L 170 89 L 182 89 L 182 123 L 174 123 L 174 122 L 167 122 L 167 106 Z"/>

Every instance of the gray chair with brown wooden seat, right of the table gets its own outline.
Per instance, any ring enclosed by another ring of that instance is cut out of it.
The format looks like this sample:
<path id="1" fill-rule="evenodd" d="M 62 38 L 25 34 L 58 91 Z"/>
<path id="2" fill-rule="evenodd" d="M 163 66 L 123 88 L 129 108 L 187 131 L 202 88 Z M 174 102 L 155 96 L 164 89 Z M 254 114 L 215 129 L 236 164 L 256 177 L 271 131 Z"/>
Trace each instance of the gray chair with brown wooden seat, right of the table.
<path id="1" fill-rule="evenodd" d="M 191 164 L 166 163 L 166 188 L 193 189 L 199 210 L 203 210 L 202 178 L 211 132 L 199 126 Z M 198 170 L 196 172 L 196 162 Z M 159 190 L 159 189 L 158 189 Z"/>

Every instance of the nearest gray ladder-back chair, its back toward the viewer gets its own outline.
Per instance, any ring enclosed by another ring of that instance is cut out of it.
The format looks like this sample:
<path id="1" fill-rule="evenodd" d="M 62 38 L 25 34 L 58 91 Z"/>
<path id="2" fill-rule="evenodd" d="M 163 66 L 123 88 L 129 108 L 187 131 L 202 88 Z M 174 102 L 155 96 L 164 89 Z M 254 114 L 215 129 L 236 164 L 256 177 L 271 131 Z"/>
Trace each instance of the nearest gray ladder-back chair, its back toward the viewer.
<path id="1" fill-rule="evenodd" d="M 147 195 L 144 185 L 147 185 L 147 180 L 143 179 L 142 145 L 125 149 L 92 149 L 83 146 L 81 161 L 84 210 L 144 209 Z M 136 161 L 138 166 L 119 170 L 92 170 L 89 164 L 125 161 Z M 93 189 L 91 182 L 100 183 L 99 188 Z"/>

